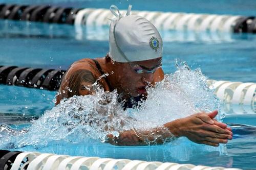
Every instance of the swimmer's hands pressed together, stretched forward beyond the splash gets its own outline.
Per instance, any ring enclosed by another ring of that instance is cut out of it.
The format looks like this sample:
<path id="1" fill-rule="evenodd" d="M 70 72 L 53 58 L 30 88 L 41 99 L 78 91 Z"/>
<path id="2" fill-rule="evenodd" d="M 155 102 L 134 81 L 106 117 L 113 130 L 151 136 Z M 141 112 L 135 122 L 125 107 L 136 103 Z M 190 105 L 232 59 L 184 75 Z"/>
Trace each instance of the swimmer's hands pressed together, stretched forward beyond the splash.
<path id="1" fill-rule="evenodd" d="M 232 139 L 232 132 L 226 124 L 217 122 L 214 117 L 218 111 L 197 113 L 164 124 L 176 137 L 185 136 L 200 144 L 218 147 L 219 143 L 227 143 Z"/>

